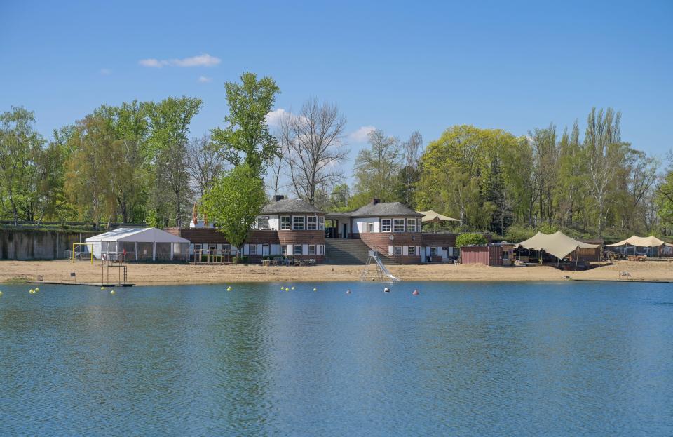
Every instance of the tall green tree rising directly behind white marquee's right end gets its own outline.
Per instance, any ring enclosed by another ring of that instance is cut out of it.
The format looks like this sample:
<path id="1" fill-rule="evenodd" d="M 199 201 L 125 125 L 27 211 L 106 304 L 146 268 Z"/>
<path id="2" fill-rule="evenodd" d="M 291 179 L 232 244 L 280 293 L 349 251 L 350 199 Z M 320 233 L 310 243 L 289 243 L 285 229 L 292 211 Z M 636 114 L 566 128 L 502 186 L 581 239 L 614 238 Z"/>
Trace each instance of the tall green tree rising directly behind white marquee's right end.
<path id="1" fill-rule="evenodd" d="M 189 123 L 203 105 L 199 98 L 167 98 L 144 105 L 151 134 L 149 150 L 154 157 L 154 208 L 172 208 L 176 226 L 189 215 L 191 187 L 187 143 Z M 168 191 L 165 190 L 168 187 Z M 168 212 L 168 211 L 165 211 Z"/>

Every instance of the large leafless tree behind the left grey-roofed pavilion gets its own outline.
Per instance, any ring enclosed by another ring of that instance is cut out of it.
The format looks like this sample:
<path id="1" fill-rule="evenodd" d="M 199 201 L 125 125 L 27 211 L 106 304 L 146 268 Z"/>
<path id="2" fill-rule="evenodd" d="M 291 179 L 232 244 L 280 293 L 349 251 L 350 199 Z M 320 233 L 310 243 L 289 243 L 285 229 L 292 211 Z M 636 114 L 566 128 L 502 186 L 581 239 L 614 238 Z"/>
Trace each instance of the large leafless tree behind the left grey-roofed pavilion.
<path id="1" fill-rule="evenodd" d="M 348 156 L 344 147 L 346 117 L 337 105 L 309 99 L 299 114 L 280 119 L 280 143 L 297 196 L 315 203 L 315 192 L 340 182 L 344 175 L 339 163 Z"/>

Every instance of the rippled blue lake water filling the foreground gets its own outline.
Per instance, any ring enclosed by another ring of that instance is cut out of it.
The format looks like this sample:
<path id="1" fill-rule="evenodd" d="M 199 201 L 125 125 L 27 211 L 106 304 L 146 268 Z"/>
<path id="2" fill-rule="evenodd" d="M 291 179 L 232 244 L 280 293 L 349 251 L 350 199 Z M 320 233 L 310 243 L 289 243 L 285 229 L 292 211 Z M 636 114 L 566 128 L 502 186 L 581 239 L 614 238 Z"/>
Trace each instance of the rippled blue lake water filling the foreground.
<path id="1" fill-rule="evenodd" d="M 673 435 L 670 284 L 294 285 L 0 285 L 0 435 Z"/>

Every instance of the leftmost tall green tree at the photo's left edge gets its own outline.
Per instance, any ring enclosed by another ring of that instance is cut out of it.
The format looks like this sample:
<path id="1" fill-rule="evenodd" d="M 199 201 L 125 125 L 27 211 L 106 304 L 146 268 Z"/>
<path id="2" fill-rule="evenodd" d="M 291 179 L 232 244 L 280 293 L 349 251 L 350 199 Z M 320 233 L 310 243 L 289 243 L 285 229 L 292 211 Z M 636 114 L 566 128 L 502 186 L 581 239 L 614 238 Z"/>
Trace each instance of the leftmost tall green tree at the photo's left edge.
<path id="1" fill-rule="evenodd" d="M 43 137 L 34 130 L 35 116 L 23 107 L 0 114 L 0 181 L 14 222 L 34 220 L 37 163 Z"/>

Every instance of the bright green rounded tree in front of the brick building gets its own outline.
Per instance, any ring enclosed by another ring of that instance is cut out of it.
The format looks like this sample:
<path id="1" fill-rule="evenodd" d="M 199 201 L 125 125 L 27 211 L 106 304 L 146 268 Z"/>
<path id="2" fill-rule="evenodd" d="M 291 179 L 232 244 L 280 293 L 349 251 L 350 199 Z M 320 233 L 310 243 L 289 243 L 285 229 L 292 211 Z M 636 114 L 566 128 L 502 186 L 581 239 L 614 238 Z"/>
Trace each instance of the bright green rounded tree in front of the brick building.
<path id="1" fill-rule="evenodd" d="M 266 200 L 264 181 L 243 163 L 215 180 L 203 206 L 226 240 L 240 248 Z"/>

